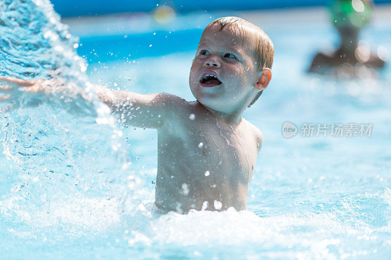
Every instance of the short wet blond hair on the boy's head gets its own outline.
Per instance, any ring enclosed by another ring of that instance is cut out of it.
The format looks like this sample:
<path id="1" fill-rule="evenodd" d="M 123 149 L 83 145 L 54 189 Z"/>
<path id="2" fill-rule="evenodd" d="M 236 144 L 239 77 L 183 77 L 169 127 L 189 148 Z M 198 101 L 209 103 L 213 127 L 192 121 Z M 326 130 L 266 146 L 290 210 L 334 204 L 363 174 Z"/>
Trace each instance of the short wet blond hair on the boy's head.
<path id="1" fill-rule="evenodd" d="M 251 42 L 250 48 L 254 51 L 254 61 L 255 68 L 257 72 L 260 72 L 264 68 L 272 68 L 273 58 L 274 58 L 274 46 L 272 40 L 267 36 L 267 34 L 257 25 L 248 20 L 244 20 L 239 17 L 221 17 L 217 20 L 214 20 L 205 30 L 210 26 L 219 25 L 219 31 L 223 30 L 225 27 L 239 36 L 241 39 L 248 40 Z M 205 32 L 204 30 L 204 32 Z M 255 97 L 253 101 L 248 105 L 250 107 L 258 98 L 261 96 L 263 90 Z"/>

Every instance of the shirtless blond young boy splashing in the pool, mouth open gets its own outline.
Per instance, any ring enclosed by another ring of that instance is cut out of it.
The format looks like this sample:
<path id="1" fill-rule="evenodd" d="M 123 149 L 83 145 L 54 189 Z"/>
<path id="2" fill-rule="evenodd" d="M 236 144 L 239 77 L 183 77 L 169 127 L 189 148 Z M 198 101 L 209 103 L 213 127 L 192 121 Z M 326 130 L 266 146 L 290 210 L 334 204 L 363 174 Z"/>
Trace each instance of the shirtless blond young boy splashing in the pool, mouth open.
<path id="1" fill-rule="evenodd" d="M 123 123 L 157 129 L 157 208 L 246 208 L 263 137 L 241 114 L 269 84 L 273 57 L 273 43 L 258 26 L 224 17 L 202 33 L 189 78 L 196 101 L 90 84 Z M 3 93 L 14 86 L 27 86 L 24 89 L 32 92 L 45 89 L 42 81 L 0 82 Z"/>

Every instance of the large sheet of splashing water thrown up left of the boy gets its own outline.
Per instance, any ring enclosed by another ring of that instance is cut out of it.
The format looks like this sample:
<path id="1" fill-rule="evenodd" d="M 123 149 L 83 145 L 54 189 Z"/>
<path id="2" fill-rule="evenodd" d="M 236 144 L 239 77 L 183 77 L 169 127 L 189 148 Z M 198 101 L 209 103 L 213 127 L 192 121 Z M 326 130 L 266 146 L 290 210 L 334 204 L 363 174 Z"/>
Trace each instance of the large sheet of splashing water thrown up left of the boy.
<path id="1" fill-rule="evenodd" d="M 1 76 L 64 89 L 13 93 L 17 109 L 1 114 L 0 222 L 101 229 L 135 212 L 138 180 L 116 120 L 86 90 L 78 39 L 48 0 L 1 0 L 0 30 Z"/>

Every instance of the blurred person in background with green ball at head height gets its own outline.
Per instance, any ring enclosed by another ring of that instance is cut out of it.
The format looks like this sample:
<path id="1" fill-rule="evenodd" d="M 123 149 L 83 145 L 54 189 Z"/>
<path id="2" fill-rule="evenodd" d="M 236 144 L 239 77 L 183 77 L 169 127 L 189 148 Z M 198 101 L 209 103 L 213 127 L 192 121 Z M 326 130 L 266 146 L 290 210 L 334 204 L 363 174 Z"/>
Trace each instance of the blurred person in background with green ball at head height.
<path id="1" fill-rule="evenodd" d="M 367 71 L 373 77 L 375 73 L 371 72 L 384 67 L 386 59 L 381 59 L 379 51 L 377 55 L 371 53 L 366 41 L 358 40 L 360 29 L 371 20 L 371 0 L 336 0 L 329 8 L 341 44 L 331 53 L 318 53 L 312 60 L 309 72 L 324 74 L 336 69 L 337 75 L 343 70 L 347 73 L 342 75 L 347 78 L 354 75 L 361 78 L 363 75 L 360 74 Z"/>

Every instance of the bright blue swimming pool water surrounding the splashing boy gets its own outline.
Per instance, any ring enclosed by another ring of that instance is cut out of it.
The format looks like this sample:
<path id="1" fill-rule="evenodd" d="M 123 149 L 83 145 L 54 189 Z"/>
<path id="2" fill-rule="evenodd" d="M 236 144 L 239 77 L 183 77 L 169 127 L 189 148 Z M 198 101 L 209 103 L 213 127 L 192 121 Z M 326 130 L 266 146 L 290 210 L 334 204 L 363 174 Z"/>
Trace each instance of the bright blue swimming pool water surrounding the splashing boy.
<path id="1" fill-rule="evenodd" d="M 152 216 L 145 205 L 154 199 L 154 130 L 110 123 L 98 103 L 23 97 L 35 106 L 22 105 L 1 120 L 0 149 L 10 160 L 0 161 L 0 257 L 389 258 L 391 69 L 380 81 L 305 74 L 314 53 L 336 42 L 322 11 L 197 13 L 170 25 L 148 16 L 94 20 L 93 26 L 66 22 L 81 37 L 78 53 L 89 62 L 92 82 L 192 100 L 188 76 L 197 39 L 209 21 L 226 15 L 260 25 L 276 49 L 271 84 L 243 115 L 265 138 L 248 210 Z M 391 50 L 391 24 L 381 11 L 363 37 Z M 48 50 L 75 44 L 53 42 Z M 87 79 L 70 72 L 59 73 Z M 90 116 L 79 117 L 82 109 Z M 282 136 L 286 121 L 299 128 L 290 139 Z M 372 123 L 371 136 L 300 136 L 303 123 L 351 122 Z"/>

